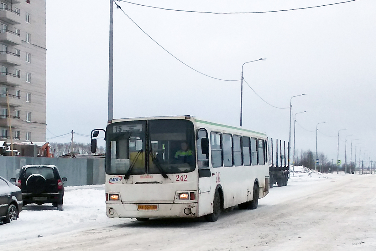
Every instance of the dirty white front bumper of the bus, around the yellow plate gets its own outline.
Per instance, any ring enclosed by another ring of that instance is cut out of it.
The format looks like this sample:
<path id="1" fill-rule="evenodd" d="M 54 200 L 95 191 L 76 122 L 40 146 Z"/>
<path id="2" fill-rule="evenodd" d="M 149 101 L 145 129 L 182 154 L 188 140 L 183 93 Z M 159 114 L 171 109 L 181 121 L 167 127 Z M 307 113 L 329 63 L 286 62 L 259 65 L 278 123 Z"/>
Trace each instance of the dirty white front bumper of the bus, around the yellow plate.
<path id="1" fill-rule="evenodd" d="M 197 217 L 197 202 L 194 203 L 142 203 L 142 205 L 157 205 L 156 210 L 139 210 L 140 204 L 106 203 L 106 214 L 109 218 L 195 218 Z"/>

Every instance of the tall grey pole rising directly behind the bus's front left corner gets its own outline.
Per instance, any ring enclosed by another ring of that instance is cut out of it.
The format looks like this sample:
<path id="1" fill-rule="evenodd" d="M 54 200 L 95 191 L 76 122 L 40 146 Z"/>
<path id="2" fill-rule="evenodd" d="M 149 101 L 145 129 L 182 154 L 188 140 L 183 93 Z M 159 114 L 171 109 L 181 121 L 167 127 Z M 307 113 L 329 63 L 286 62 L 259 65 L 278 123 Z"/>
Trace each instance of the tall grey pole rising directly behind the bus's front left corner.
<path id="1" fill-rule="evenodd" d="M 108 57 L 108 120 L 109 122 L 113 118 L 114 118 L 114 0 L 110 0 L 110 42 L 109 42 L 109 57 Z"/>

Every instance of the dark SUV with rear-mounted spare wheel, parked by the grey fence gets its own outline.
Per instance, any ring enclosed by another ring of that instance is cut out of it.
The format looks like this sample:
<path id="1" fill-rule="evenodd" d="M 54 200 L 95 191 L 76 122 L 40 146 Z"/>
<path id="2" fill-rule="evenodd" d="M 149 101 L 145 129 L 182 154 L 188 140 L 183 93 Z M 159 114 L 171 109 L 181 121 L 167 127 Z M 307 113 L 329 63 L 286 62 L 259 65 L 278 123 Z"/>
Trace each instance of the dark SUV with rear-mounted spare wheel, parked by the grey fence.
<path id="1" fill-rule="evenodd" d="M 64 182 L 58 167 L 53 165 L 23 166 L 18 179 L 11 179 L 21 188 L 23 205 L 52 203 L 58 210 L 63 210 Z"/>

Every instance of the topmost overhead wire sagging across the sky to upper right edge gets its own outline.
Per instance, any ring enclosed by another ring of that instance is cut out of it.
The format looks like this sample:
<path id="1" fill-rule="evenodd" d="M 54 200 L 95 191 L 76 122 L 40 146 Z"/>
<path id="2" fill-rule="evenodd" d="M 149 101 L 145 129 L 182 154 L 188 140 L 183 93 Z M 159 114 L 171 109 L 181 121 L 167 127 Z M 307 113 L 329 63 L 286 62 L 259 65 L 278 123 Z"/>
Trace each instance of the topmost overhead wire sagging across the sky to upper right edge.
<path id="1" fill-rule="evenodd" d="M 303 8 L 294 8 L 294 9 L 282 9 L 277 11 L 254 11 L 254 12 L 210 12 L 210 11 L 187 11 L 187 10 L 178 10 L 178 9 L 167 9 L 167 8 L 161 8 L 161 7 L 155 7 L 150 5 L 141 5 L 139 3 L 132 3 L 124 0 L 116 0 L 118 2 L 124 2 L 124 3 L 130 3 L 132 5 L 138 5 L 143 7 L 149 7 L 154 9 L 163 9 L 165 11 L 180 11 L 180 12 L 193 12 L 193 13 L 205 13 L 205 14 L 258 14 L 258 13 L 272 13 L 272 12 L 282 12 L 282 11 L 296 11 L 301 9 L 312 9 L 312 8 L 318 8 L 318 7 L 324 7 L 324 6 L 331 6 L 331 5 L 339 5 L 341 3 L 350 3 L 357 0 L 349 0 L 345 2 L 338 2 L 338 3 L 329 3 L 327 5 L 317 5 L 317 6 L 309 6 L 309 7 L 303 7 Z M 116 4 L 116 3 L 115 3 Z"/>

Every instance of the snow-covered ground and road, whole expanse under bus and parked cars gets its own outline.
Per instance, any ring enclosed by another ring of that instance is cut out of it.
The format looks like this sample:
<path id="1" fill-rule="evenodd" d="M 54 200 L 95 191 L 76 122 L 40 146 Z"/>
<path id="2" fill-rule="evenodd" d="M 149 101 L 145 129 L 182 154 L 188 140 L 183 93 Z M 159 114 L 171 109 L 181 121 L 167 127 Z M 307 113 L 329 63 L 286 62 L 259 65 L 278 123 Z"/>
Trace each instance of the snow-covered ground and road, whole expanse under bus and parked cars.
<path id="1" fill-rule="evenodd" d="M 0 250 L 374 251 L 375 181 L 375 175 L 301 175 L 271 189 L 256 210 L 235 208 L 217 222 L 109 219 L 104 186 L 68 187 L 64 211 L 27 206 L 16 222 L 0 225 Z"/>

